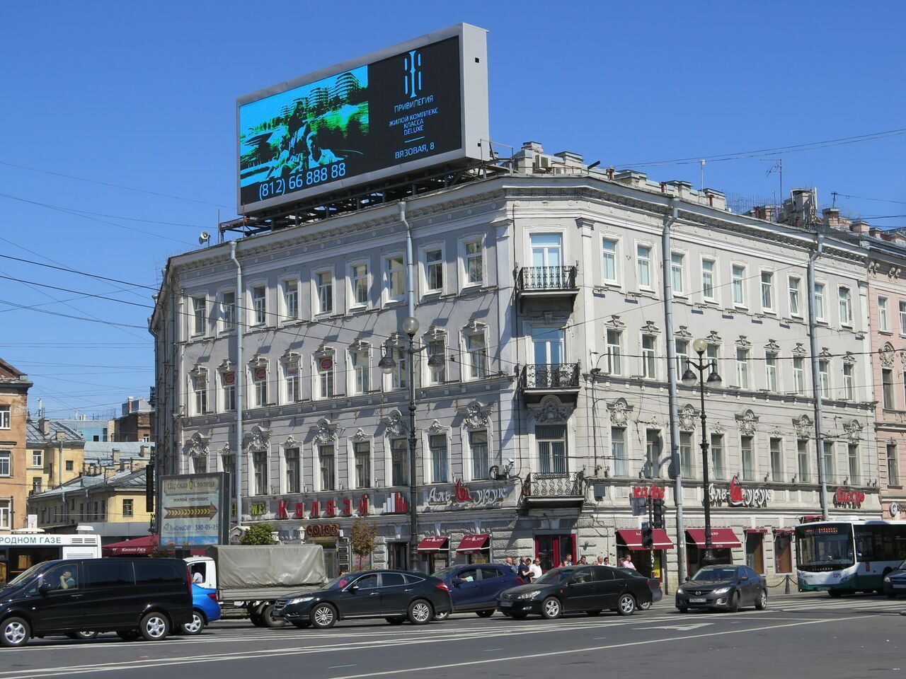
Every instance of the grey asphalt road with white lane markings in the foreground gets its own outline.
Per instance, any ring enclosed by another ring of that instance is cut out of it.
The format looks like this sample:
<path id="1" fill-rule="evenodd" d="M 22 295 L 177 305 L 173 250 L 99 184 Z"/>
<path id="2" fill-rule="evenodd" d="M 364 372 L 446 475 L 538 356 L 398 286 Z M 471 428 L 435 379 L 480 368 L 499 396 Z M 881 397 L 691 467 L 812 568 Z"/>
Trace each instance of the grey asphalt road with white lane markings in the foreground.
<path id="1" fill-rule="evenodd" d="M 906 677 L 903 609 L 902 599 L 793 595 L 735 614 L 680 615 L 667 598 L 631 617 L 458 615 L 428 626 L 380 620 L 323 631 L 219 622 L 201 636 L 155 643 L 35 639 L 0 650 L 0 679 Z"/>

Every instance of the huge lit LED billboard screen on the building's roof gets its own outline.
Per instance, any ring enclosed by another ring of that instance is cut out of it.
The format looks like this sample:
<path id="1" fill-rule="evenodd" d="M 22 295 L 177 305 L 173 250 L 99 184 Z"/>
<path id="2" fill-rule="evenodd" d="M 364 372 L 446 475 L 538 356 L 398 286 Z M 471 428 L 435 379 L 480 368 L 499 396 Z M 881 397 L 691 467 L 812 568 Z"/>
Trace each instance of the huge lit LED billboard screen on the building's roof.
<path id="1" fill-rule="evenodd" d="M 237 109 L 241 215 L 487 159 L 486 33 L 451 26 L 246 95 Z"/>

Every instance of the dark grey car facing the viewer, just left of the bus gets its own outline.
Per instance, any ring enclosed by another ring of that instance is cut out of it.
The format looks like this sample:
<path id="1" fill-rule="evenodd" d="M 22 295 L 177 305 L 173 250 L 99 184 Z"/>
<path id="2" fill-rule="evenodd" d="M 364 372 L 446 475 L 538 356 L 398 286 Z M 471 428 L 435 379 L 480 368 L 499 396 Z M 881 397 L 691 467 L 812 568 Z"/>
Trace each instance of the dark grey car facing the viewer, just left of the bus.
<path id="1" fill-rule="evenodd" d="M 735 612 L 740 607 L 767 607 L 767 583 L 748 566 L 706 566 L 677 589 L 677 608 L 709 608 Z"/>

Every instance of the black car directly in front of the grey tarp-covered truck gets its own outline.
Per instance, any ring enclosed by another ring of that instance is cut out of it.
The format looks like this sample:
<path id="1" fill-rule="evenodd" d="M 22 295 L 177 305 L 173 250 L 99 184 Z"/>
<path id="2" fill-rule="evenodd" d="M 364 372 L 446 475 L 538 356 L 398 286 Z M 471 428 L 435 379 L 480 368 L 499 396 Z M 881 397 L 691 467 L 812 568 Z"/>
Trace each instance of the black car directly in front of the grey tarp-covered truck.
<path id="1" fill-rule="evenodd" d="M 274 617 L 296 627 L 333 627 L 337 620 L 384 617 L 391 625 L 424 625 L 447 617 L 452 605 L 447 583 L 422 573 L 364 570 L 347 573 L 315 592 L 278 599 Z"/>

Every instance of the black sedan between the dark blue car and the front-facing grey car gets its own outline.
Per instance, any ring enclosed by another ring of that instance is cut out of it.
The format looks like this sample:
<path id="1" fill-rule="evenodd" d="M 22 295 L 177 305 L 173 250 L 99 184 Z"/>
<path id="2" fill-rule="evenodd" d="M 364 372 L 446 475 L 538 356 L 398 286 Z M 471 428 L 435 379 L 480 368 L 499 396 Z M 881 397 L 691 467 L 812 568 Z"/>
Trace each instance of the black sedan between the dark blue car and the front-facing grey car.
<path id="1" fill-rule="evenodd" d="M 597 616 L 602 610 L 630 616 L 651 604 L 648 579 L 634 577 L 610 566 L 566 566 L 548 570 L 531 585 L 501 592 L 497 608 L 505 616 L 522 619 L 535 613 L 548 620 L 583 611 Z"/>

